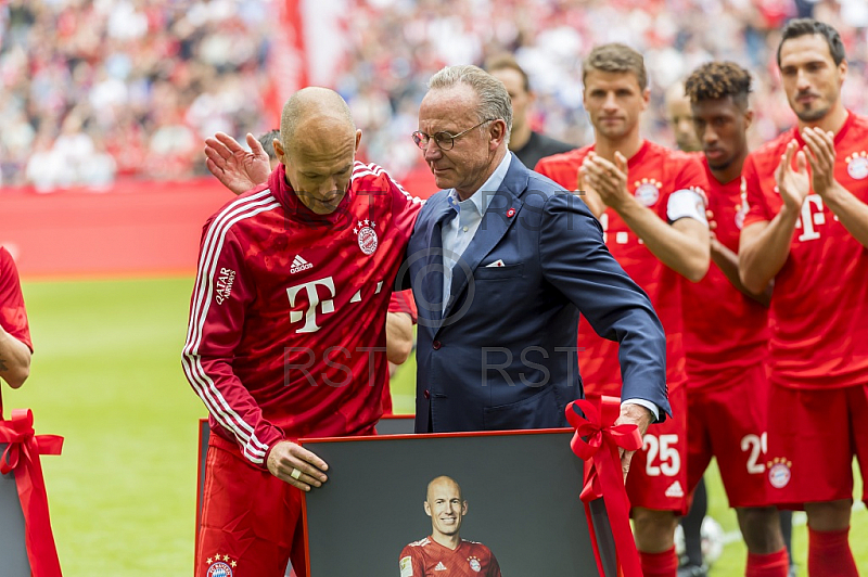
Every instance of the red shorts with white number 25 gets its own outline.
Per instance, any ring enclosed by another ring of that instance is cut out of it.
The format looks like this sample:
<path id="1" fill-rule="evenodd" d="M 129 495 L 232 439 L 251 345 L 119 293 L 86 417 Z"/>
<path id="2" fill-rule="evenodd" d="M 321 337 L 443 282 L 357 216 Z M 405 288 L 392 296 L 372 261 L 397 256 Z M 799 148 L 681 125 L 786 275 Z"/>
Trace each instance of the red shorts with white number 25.
<path id="1" fill-rule="evenodd" d="M 651 425 L 627 475 L 633 507 L 687 513 L 687 398 L 685 387 L 669 393 L 673 419 Z"/>

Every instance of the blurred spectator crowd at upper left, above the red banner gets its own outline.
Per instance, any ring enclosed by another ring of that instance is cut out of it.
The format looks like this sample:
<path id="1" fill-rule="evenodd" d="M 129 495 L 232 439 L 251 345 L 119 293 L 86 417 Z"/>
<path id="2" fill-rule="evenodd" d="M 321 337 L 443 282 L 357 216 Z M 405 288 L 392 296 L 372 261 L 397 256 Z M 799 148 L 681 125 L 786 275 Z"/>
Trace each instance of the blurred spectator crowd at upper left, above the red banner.
<path id="1" fill-rule="evenodd" d="M 204 174 L 197 143 L 261 116 L 273 10 L 268 0 L 3 2 L 3 184 Z"/>

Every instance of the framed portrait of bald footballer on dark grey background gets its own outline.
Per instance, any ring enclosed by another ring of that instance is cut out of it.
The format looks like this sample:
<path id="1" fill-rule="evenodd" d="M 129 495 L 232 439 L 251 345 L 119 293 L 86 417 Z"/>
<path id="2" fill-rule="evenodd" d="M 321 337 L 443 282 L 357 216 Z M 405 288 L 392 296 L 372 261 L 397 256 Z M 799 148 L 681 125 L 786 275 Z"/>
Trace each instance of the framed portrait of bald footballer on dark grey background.
<path id="1" fill-rule="evenodd" d="M 615 577 L 601 500 L 591 503 L 598 568 L 572 435 L 303 439 L 330 467 L 328 483 L 305 493 L 310 577 Z"/>

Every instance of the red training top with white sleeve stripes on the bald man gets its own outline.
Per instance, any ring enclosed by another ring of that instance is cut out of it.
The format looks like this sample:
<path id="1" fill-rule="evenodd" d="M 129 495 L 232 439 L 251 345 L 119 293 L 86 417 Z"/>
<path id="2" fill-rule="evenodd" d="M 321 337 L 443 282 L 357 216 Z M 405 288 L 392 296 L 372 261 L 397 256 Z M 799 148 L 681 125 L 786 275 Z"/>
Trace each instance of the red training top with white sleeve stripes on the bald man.
<path id="1" fill-rule="evenodd" d="M 420 207 L 357 162 L 337 209 L 316 215 L 281 165 L 206 222 L 182 362 L 212 431 L 253 464 L 284 438 L 373 431 L 386 308 Z"/>

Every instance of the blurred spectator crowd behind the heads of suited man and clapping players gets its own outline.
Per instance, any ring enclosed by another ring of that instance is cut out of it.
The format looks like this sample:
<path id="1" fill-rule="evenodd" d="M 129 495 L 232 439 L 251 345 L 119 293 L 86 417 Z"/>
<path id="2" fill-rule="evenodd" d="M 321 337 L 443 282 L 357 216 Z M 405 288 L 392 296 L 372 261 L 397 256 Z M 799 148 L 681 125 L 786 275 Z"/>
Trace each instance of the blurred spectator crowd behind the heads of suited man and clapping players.
<path id="1" fill-rule="evenodd" d="M 861 21 L 843 21 L 844 5 L 838 2 L 824 0 L 812 7 L 840 21 L 847 30 L 852 64 L 864 68 L 868 42 L 864 27 L 859 28 Z M 748 66 L 757 79 L 757 121 L 751 141 L 757 145 L 792 124 L 781 106 L 783 95 L 771 64 L 778 29 L 794 14 L 791 0 L 521 0 L 496 4 L 482 0 L 460 8 L 355 0 L 340 26 L 348 49 L 335 86 L 354 111 L 357 99 L 362 94 L 369 99 L 371 90 L 395 111 L 385 126 L 360 120 L 359 127 L 369 143 L 366 154 L 378 162 L 390 161 L 390 166 L 399 156 L 394 170 L 400 176 L 413 158 L 391 136 L 403 132 L 398 125 L 406 126 L 406 111 L 417 105 L 424 81 L 443 65 L 483 63 L 505 51 L 513 53 L 537 95 L 532 115 L 535 129 L 586 144 L 592 141 L 593 131 L 576 98 L 582 84 L 575 55 L 586 54 L 593 46 L 622 41 L 647 57 L 652 99 L 642 128 L 650 140 L 665 142 L 671 136 L 664 89 L 702 62 L 725 57 Z M 443 41 L 444 37 L 448 41 Z M 845 93 L 857 108 L 864 107 L 868 95 L 866 78 L 852 80 Z M 385 138 L 380 138 L 381 133 Z"/>

